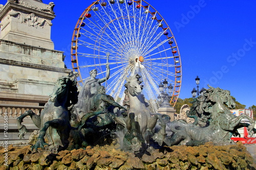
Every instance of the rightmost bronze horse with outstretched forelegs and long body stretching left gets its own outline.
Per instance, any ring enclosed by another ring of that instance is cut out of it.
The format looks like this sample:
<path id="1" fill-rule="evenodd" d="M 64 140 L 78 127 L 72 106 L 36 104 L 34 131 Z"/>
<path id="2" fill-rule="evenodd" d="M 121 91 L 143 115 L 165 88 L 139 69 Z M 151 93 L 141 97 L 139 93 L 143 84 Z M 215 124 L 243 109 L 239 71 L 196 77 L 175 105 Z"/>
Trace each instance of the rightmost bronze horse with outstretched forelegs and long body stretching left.
<path id="1" fill-rule="evenodd" d="M 210 86 L 209 86 L 210 87 Z M 173 136 L 167 140 L 168 145 L 187 144 L 199 145 L 212 141 L 216 145 L 234 143 L 230 138 L 238 128 L 247 127 L 250 135 L 255 133 L 253 128 L 255 120 L 245 114 L 233 115 L 229 109 L 233 109 L 236 103 L 228 90 L 210 87 L 203 95 L 200 95 L 190 109 L 190 117 L 195 118 L 194 124 L 175 120 L 170 123 Z M 250 124 L 240 123 L 243 118 Z M 206 127 L 196 126 L 198 119 L 208 122 Z"/>

